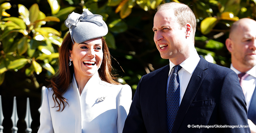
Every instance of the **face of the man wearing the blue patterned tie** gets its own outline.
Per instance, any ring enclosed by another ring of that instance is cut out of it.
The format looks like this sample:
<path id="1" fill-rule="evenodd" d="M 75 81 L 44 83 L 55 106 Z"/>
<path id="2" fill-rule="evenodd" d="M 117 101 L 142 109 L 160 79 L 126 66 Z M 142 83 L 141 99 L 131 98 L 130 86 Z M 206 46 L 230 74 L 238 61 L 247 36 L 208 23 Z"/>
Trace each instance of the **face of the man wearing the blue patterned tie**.
<path id="1" fill-rule="evenodd" d="M 154 41 L 163 59 L 178 59 L 188 52 L 185 25 L 180 29 L 172 9 L 158 11 L 154 17 Z"/>

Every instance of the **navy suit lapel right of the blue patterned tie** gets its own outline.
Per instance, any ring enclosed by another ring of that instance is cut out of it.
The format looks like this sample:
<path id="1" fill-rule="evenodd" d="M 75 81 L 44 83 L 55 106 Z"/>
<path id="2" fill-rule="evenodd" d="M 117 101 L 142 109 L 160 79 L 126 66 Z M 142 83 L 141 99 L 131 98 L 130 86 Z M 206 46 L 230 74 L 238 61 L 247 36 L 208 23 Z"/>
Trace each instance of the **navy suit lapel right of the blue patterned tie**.
<path id="1" fill-rule="evenodd" d="M 186 91 L 182 98 L 178 113 L 174 121 L 172 133 L 176 133 L 180 128 L 180 125 L 187 113 L 187 110 L 191 102 L 193 101 L 195 95 L 197 94 L 197 91 L 202 81 L 207 75 L 207 73 L 204 72 L 204 70 L 206 70 L 207 68 L 208 68 L 208 62 L 200 56 L 200 61 L 191 76 L 191 79 L 187 85 Z"/>

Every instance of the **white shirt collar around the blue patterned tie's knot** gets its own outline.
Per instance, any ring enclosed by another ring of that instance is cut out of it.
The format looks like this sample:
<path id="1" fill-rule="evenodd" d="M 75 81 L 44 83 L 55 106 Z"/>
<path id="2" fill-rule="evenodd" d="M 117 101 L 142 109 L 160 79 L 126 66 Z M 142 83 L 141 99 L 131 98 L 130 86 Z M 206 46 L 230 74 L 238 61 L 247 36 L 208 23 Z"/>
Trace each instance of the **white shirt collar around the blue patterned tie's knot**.
<path id="1" fill-rule="evenodd" d="M 185 61 L 180 63 L 180 66 L 182 67 L 182 69 L 184 69 L 187 72 L 189 72 L 190 74 L 192 74 L 194 72 L 195 68 L 197 67 L 197 64 L 199 61 L 200 61 L 200 57 L 198 56 L 197 50 L 195 49 L 194 52 L 191 54 L 191 56 L 189 56 L 189 58 L 187 58 Z M 171 70 L 172 70 L 173 66 L 175 66 L 175 65 L 170 60 L 169 60 L 169 62 L 170 62 L 170 71 L 169 71 L 169 75 L 170 75 Z"/>

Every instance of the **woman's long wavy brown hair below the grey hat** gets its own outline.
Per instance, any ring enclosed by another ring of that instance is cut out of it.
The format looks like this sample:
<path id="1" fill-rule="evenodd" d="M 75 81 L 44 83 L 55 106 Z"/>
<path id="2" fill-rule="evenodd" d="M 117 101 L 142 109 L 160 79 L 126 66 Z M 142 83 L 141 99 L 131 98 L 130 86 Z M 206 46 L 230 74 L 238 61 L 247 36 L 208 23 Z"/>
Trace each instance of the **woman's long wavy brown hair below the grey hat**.
<path id="1" fill-rule="evenodd" d="M 102 52 L 103 59 L 100 68 L 98 69 L 98 74 L 102 81 L 108 82 L 110 84 L 120 84 L 116 81 L 116 77 L 111 74 L 113 70 L 111 66 L 111 55 L 108 50 L 108 46 L 103 37 L 102 40 Z M 58 107 L 61 110 L 61 104 L 63 108 L 65 108 L 65 103 L 67 99 L 63 97 L 63 94 L 67 91 L 70 83 L 72 82 L 72 77 L 74 74 L 74 66 L 73 64 L 69 66 L 69 50 L 72 50 L 73 43 L 70 34 L 64 38 L 61 47 L 59 48 L 59 70 L 58 72 L 52 76 L 50 79 L 51 85 L 48 88 L 52 88 L 53 94 L 52 99 L 54 100 L 54 107 Z M 56 106 L 56 103 L 58 106 Z M 53 108 L 54 108 L 53 107 Z"/>

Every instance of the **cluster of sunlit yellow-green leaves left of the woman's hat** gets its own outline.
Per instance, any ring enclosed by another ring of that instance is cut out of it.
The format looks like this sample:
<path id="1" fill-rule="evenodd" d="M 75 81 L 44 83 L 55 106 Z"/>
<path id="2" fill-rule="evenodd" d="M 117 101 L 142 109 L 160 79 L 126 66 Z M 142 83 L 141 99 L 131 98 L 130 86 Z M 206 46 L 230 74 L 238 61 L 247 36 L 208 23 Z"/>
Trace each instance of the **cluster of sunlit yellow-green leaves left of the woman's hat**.
<path id="1" fill-rule="evenodd" d="M 49 2 L 51 2 L 53 14 L 58 13 L 59 9 L 54 7 L 57 1 L 49 0 Z M 0 11 L 4 11 L 9 7 L 8 4 L 2 4 Z M 44 68 L 50 72 L 49 74 L 55 74 L 55 70 L 51 65 L 56 63 L 57 60 L 55 58 L 58 58 L 59 54 L 55 53 L 58 49 L 54 49 L 52 44 L 60 47 L 63 41 L 60 38 L 61 32 L 51 27 L 41 27 L 41 25 L 45 25 L 46 22 L 50 21 L 60 22 L 60 20 L 55 16 L 46 16 L 39 10 L 37 4 L 33 4 L 29 10 L 21 4 L 18 4 L 18 8 L 19 18 L 8 17 L 0 22 L 2 30 L 0 44 L 3 47 L 0 49 L 0 84 L 4 81 L 4 75 L 7 70 L 17 71 L 24 68 L 24 66 L 29 66 L 24 73 L 33 77 L 35 86 L 38 88 L 39 84 L 33 72 L 40 74 L 43 70 L 42 68 Z M 42 61 L 45 63 L 41 63 Z"/>

